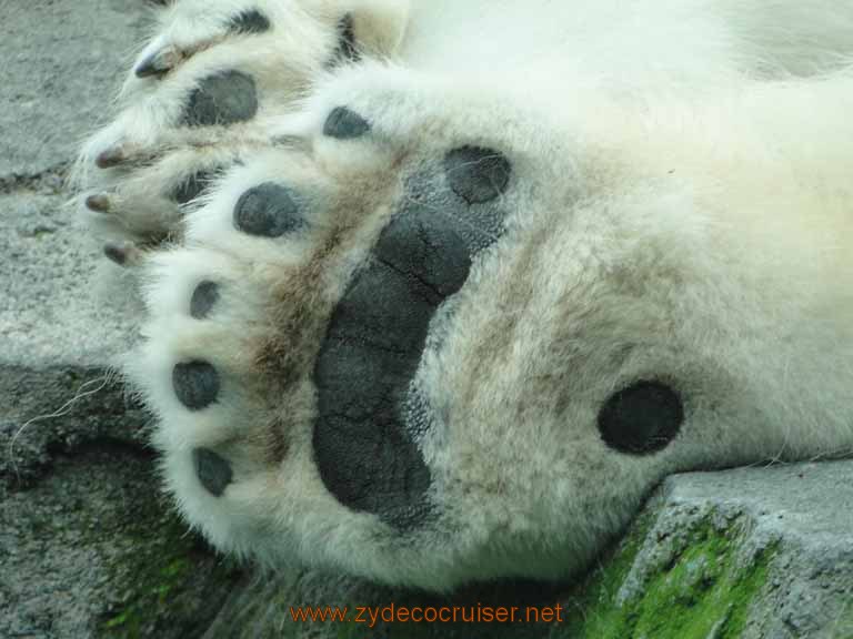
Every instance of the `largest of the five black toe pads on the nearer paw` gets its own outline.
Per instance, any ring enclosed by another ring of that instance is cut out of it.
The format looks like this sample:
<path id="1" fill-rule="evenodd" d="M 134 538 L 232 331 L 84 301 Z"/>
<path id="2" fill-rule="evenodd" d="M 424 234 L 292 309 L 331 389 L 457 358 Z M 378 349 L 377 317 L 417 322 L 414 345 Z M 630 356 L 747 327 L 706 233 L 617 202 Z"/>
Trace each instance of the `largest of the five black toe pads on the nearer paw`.
<path id="1" fill-rule="evenodd" d="M 234 226 L 249 235 L 280 237 L 304 224 L 295 194 L 275 182 L 249 189 L 234 206 Z"/>

